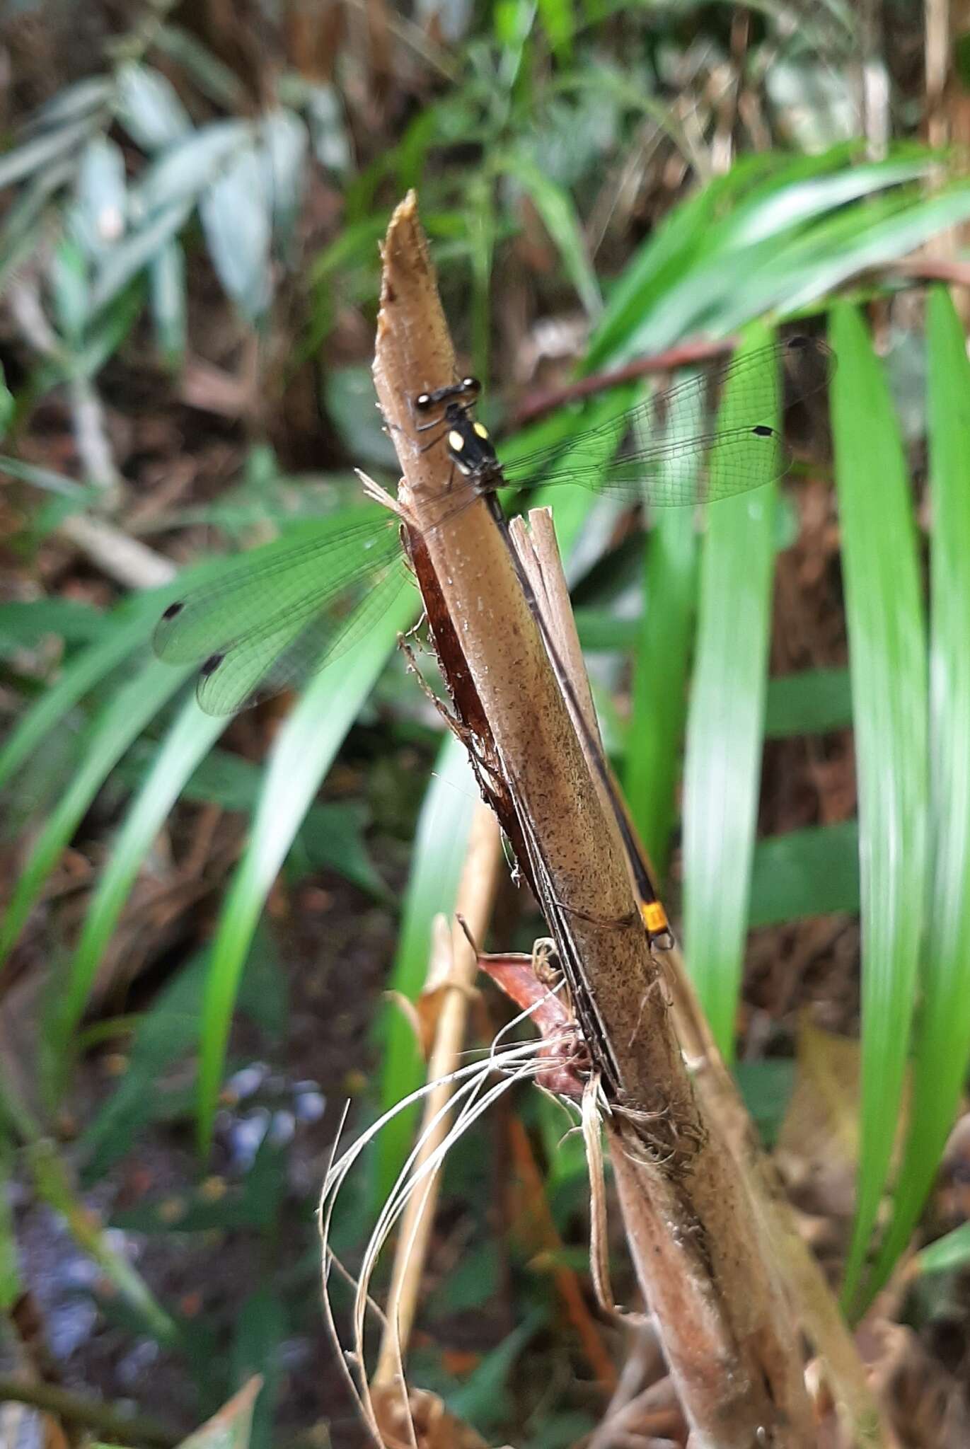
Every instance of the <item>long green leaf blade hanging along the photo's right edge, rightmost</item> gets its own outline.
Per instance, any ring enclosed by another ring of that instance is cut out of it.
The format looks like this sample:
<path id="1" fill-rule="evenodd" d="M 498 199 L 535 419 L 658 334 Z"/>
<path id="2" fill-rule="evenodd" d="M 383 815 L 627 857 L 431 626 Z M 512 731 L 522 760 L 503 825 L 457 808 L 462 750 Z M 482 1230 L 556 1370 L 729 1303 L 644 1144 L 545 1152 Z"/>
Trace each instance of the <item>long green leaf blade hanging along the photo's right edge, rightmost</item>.
<path id="1" fill-rule="evenodd" d="M 929 920 L 913 1090 L 893 1220 L 870 1293 L 906 1246 L 940 1165 L 970 1056 L 970 364 L 945 291 L 929 301 Z"/>

